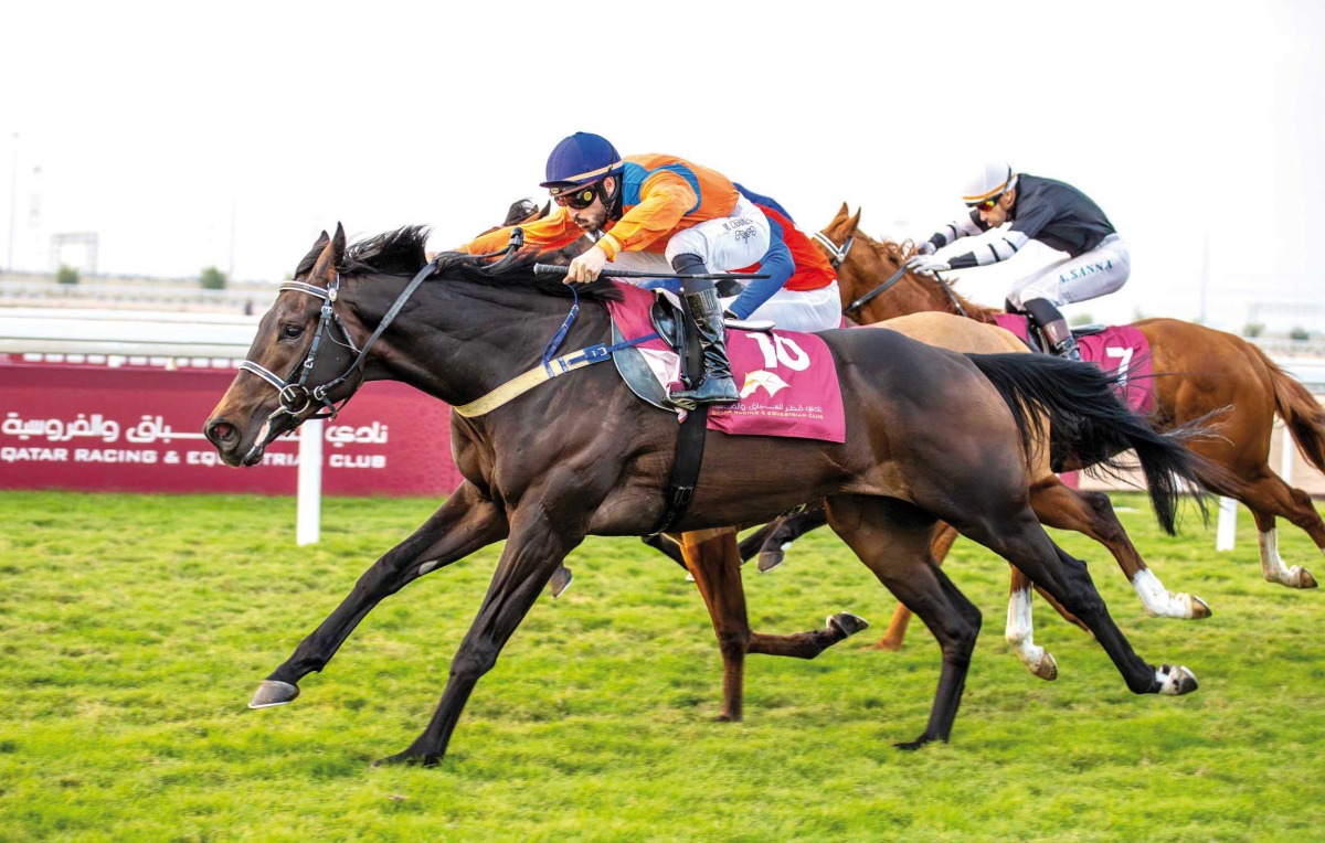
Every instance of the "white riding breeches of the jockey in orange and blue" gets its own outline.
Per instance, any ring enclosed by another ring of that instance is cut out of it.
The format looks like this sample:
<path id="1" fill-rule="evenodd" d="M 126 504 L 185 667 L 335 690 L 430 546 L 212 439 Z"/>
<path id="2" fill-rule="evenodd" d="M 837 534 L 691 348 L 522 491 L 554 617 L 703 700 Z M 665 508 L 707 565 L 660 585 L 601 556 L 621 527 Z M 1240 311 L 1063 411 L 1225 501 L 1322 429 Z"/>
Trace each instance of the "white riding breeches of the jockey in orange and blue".
<path id="1" fill-rule="evenodd" d="M 768 251 L 768 218 L 742 196 L 730 217 L 705 220 L 677 232 L 666 242 L 665 254 L 620 251 L 607 266 L 666 277 L 672 271 L 672 258 L 678 254 L 697 254 L 710 273 L 729 273 L 762 261 Z"/>

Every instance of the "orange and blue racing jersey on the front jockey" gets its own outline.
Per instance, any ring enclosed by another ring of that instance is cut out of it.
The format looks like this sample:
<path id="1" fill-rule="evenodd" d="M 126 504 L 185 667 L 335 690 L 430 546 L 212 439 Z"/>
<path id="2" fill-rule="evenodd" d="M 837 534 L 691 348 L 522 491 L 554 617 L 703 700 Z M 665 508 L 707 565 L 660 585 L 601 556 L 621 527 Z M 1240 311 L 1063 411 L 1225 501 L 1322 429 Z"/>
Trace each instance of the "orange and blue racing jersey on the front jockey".
<path id="1" fill-rule="evenodd" d="M 621 217 L 608 220 L 596 246 L 612 259 L 620 251 L 666 251 L 678 232 L 730 217 L 741 195 L 722 173 L 674 155 L 629 155 L 620 176 Z M 521 226 L 525 244 L 547 251 L 584 234 L 566 208 Z M 481 234 L 460 247 L 473 254 L 498 251 L 510 242 L 510 228 Z"/>

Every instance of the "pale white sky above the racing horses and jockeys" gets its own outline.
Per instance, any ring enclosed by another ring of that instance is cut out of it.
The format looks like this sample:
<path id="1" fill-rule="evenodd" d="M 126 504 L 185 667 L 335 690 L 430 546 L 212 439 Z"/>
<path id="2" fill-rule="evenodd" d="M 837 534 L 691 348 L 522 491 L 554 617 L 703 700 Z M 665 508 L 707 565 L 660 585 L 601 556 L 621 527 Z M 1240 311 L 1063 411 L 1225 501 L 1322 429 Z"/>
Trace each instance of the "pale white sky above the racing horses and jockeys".
<path id="1" fill-rule="evenodd" d="M 1003 156 L 1132 246 L 1129 285 L 1069 315 L 1196 318 L 1204 277 L 1222 327 L 1249 300 L 1325 322 L 1314 0 L 48 0 L 4 29 L 0 258 L 12 197 L 20 267 L 82 230 L 102 271 L 156 275 L 280 278 L 338 220 L 454 245 L 538 196 L 583 130 L 713 167 L 807 230 L 847 201 L 894 237 L 951 218 L 971 164 Z M 962 288 L 1000 303 L 1010 269 Z"/>

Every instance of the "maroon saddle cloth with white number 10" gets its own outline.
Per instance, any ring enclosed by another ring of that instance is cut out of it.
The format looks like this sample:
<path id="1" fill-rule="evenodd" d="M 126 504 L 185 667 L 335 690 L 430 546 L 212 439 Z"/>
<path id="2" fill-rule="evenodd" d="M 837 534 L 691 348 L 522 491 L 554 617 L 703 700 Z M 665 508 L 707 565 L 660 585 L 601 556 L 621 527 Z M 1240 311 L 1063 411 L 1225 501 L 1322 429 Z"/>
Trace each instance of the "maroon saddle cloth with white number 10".
<path id="1" fill-rule="evenodd" d="M 653 333 L 653 294 L 616 282 L 620 302 L 608 302 L 612 323 L 625 337 Z M 668 392 L 681 388 L 678 356 L 661 339 L 637 347 Z M 727 357 L 741 390 L 737 404 L 709 406 L 709 430 L 734 435 L 847 441 L 837 367 L 814 333 L 727 328 Z M 668 378 L 664 381 L 664 378 Z"/>

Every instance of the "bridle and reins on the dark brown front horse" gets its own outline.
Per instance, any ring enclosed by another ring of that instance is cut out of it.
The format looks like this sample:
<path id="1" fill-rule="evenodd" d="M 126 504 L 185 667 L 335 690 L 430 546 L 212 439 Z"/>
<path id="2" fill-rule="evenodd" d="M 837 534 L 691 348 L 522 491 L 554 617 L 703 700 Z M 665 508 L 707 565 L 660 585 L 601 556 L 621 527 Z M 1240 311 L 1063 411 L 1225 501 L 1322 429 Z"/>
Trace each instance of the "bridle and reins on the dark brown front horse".
<path id="1" fill-rule="evenodd" d="M 506 258 L 515 254 L 515 251 L 518 251 L 519 247 L 523 245 L 525 245 L 525 232 L 517 228 L 511 232 L 510 244 L 505 249 L 489 254 L 476 254 L 470 257 L 473 259 Z M 240 364 L 241 372 L 250 372 L 252 375 L 257 375 L 264 381 L 274 386 L 277 394 L 280 396 L 281 406 L 274 409 L 272 414 L 268 416 L 266 418 L 268 422 L 270 423 L 281 416 L 292 417 L 295 421 L 295 425 L 299 425 L 303 421 L 307 421 L 309 418 L 335 418 L 337 414 L 339 414 L 339 412 L 350 401 L 352 393 L 350 396 L 346 396 L 339 404 L 337 404 L 330 397 L 331 392 L 335 390 L 338 386 L 341 386 L 342 384 L 344 384 L 351 377 L 354 377 L 355 375 L 359 375 L 362 377 L 363 367 L 368 357 L 368 351 L 372 349 L 372 347 L 378 343 L 378 339 L 383 335 L 383 332 L 386 332 L 386 330 L 391 326 L 391 323 L 395 322 L 396 316 L 400 314 L 400 310 L 405 306 L 405 302 L 408 302 L 409 296 L 412 296 L 415 290 L 419 288 L 419 285 L 421 285 L 424 279 L 427 279 L 429 275 L 437 271 L 437 267 L 440 266 L 441 259 L 444 257 L 448 255 L 443 253 L 435 257 L 432 261 L 424 265 L 421 270 L 419 270 L 419 273 L 409 281 L 408 285 L 405 285 L 405 288 L 401 290 L 400 295 L 396 296 L 396 300 L 391 304 L 391 308 L 387 311 L 386 316 L 382 318 L 382 322 L 378 323 L 378 327 L 376 330 L 374 330 L 372 335 L 368 336 L 368 340 L 363 344 L 363 348 L 355 348 L 354 340 L 350 337 L 350 331 L 346 330 L 344 323 L 341 320 L 341 316 L 337 315 L 335 312 L 335 302 L 341 292 L 341 273 L 335 274 L 335 278 L 333 278 L 327 283 L 326 288 L 322 288 L 317 285 L 310 285 L 303 281 L 286 281 L 285 283 L 282 283 L 280 287 L 280 292 L 286 292 L 286 291 L 302 292 L 305 295 L 311 295 L 322 299 L 322 312 L 318 315 L 318 328 L 317 332 L 313 335 L 313 343 L 309 345 L 309 351 L 303 353 L 303 359 L 298 364 L 295 364 L 294 369 L 292 371 L 288 378 L 282 378 L 270 369 L 257 363 L 253 363 L 252 360 L 245 360 Z M 498 263 L 501 263 L 501 261 L 496 261 L 493 266 L 497 266 Z M 335 324 L 335 327 L 341 331 L 341 336 L 344 337 L 343 343 L 331 336 L 333 324 Z M 318 351 L 323 348 L 323 340 L 326 341 L 326 344 L 335 343 L 342 348 L 348 348 L 351 352 L 356 352 L 358 356 L 354 359 L 352 363 L 350 363 L 348 368 L 346 368 L 346 371 L 342 372 L 339 377 L 335 377 L 318 386 L 309 388 L 307 385 L 309 376 L 313 373 L 313 367 L 317 363 Z M 294 380 L 295 375 L 298 375 L 297 381 Z M 311 406 L 314 401 L 321 404 L 322 408 L 306 418 L 299 418 L 299 416 L 307 412 L 309 406 Z"/>

